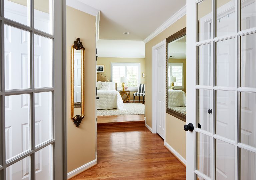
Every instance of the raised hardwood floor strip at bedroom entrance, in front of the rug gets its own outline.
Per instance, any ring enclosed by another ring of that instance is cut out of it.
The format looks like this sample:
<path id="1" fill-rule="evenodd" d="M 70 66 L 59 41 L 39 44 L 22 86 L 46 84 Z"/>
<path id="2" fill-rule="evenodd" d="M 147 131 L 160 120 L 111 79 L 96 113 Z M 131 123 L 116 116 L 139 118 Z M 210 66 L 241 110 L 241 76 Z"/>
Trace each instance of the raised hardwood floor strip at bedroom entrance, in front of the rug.
<path id="1" fill-rule="evenodd" d="M 144 115 L 97 116 L 98 123 L 144 121 Z"/>

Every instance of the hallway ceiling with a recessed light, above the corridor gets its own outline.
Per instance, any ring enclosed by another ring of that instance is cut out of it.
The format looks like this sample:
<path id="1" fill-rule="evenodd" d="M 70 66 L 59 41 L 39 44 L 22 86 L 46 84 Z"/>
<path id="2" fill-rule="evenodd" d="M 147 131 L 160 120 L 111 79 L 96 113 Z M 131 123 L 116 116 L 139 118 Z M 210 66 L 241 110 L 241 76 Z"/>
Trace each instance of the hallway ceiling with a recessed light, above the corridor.
<path id="1" fill-rule="evenodd" d="M 78 1 L 89 6 L 90 10 L 101 11 L 99 39 L 112 40 L 143 41 L 186 5 L 186 0 Z M 67 5 L 71 3 L 73 4 L 74 0 L 67 1 Z M 123 32 L 130 34 L 125 35 Z"/>

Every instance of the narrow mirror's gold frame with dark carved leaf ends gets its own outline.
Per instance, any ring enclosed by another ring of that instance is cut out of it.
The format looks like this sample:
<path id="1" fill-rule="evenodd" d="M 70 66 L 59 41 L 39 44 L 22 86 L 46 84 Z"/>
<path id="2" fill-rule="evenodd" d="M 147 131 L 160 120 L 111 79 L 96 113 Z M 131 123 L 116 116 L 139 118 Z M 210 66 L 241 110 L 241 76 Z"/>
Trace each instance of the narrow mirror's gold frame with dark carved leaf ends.
<path id="1" fill-rule="evenodd" d="M 74 51 L 81 50 L 81 102 L 74 102 Z M 71 47 L 71 119 L 76 125 L 80 127 L 80 123 L 84 118 L 84 46 L 77 38 Z M 74 108 L 81 107 L 81 115 L 74 115 Z"/>

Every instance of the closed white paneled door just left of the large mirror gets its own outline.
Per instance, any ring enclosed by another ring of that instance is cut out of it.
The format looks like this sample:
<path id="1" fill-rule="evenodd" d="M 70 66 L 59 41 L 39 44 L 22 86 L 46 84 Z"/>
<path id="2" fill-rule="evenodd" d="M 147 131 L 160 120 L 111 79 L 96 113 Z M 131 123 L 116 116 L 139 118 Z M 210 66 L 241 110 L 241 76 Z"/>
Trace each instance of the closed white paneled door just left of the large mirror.
<path id="1" fill-rule="evenodd" d="M 156 50 L 157 57 L 157 118 L 156 118 L 156 132 L 163 139 L 165 139 L 165 72 L 166 72 L 166 53 L 165 46 L 162 46 Z"/>

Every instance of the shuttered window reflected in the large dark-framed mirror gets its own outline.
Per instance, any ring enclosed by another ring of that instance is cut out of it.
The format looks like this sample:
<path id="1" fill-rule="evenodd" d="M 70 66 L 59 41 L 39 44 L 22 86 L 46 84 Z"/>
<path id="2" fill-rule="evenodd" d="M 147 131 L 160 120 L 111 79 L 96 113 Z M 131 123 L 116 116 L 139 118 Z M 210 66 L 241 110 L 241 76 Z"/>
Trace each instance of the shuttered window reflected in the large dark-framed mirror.
<path id="1" fill-rule="evenodd" d="M 183 89 L 183 63 L 169 63 L 168 66 L 168 86 L 171 86 L 170 77 L 176 77 L 174 86 L 176 89 Z"/>

